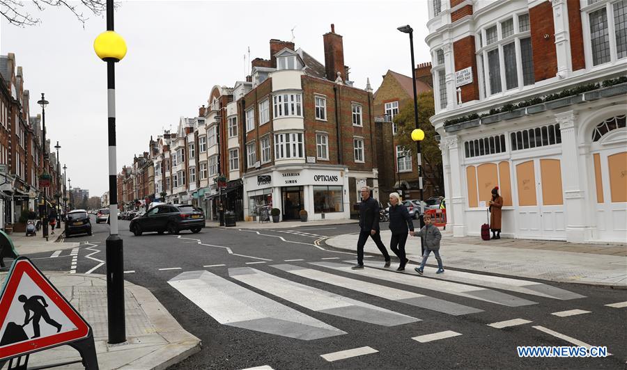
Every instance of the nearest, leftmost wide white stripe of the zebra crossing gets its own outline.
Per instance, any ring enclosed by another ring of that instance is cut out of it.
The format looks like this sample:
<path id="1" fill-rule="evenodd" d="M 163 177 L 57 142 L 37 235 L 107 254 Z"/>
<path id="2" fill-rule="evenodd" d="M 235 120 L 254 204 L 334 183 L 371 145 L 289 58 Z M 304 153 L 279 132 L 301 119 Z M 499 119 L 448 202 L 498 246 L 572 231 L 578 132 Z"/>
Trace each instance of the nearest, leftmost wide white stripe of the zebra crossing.
<path id="1" fill-rule="evenodd" d="M 301 340 L 346 334 L 206 270 L 180 273 L 168 284 L 224 325 Z"/>

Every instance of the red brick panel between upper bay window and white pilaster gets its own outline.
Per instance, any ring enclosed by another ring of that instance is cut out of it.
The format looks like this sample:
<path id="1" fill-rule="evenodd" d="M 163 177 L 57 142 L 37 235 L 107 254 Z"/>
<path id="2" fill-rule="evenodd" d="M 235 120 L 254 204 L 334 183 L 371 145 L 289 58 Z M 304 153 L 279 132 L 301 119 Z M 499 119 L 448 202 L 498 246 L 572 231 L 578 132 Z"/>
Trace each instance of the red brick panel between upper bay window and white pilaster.
<path id="1" fill-rule="evenodd" d="M 557 74 L 557 50 L 555 49 L 555 25 L 550 1 L 544 1 L 529 9 L 534 75 L 536 82 L 555 77 Z M 545 38 L 548 35 L 548 38 Z"/>

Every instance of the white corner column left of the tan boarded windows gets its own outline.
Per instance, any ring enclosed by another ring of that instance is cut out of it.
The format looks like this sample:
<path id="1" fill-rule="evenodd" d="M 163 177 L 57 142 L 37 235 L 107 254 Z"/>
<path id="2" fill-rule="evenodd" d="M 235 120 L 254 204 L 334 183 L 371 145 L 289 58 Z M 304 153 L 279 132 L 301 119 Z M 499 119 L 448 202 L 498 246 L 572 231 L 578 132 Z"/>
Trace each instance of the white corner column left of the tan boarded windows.
<path id="1" fill-rule="evenodd" d="M 451 201 L 447 202 L 447 214 L 451 209 L 453 216 L 453 236 L 465 236 L 466 225 L 464 225 L 464 203 L 465 198 L 462 194 L 463 176 L 461 172 L 460 157 L 458 150 L 458 136 L 449 136 L 447 138 L 447 146 L 449 147 L 449 165 L 451 168 Z"/>

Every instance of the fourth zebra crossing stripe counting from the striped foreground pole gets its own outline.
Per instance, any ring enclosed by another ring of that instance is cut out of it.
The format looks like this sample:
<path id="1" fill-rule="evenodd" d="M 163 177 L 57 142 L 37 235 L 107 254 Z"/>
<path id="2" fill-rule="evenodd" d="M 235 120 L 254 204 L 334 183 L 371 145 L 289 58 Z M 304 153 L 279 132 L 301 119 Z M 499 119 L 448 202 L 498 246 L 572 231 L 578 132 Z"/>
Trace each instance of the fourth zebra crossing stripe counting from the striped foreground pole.
<path id="1" fill-rule="evenodd" d="M 404 273 L 396 273 L 395 271 L 389 270 L 379 270 L 378 268 L 353 270 L 351 266 L 346 266 L 346 264 L 336 264 L 334 262 L 320 262 L 315 264 L 318 266 L 333 268 L 337 271 L 366 276 L 368 278 L 376 278 L 388 282 L 398 282 L 399 284 L 410 285 L 411 287 L 419 287 L 420 289 L 428 289 L 433 291 L 439 291 L 440 293 L 453 294 L 454 296 L 484 300 L 486 302 L 496 303 L 497 305 L 518 307 L 537 304 L 536 302 L 533 302 L 531 300 L 518 298 L 516 296 L 511 296 L 509 294 L 501 293 L 500 291 L 494 291 L 487 288 L 472 287 L 471 285 L 435 279 L 429 279 L 428 281 L 424 282 L 424 280 L 417 280 L 421 279 L 417 276 L 417 273 L 410 275 Z M 380 266 L 380 262 L 364 262 L 364 265 Z M 424 282 L 424 284 L 421 284 L 422 282 Z"/>

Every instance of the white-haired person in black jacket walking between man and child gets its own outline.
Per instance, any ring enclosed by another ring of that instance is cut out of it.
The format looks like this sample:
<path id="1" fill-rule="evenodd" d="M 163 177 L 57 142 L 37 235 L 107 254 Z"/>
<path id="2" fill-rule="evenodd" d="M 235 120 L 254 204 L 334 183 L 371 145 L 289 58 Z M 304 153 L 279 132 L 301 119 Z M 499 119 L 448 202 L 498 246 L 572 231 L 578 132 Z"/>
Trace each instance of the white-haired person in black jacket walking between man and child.
<path id="1" fill-rule="evenodd" d="M 409 259 L 405 256 L 405 242 L 407 241 L 408 232 L 414 231 L 414 223 L 409 215 L 407 207 L 401 203 L 401 195 L 391 193 L 389 195 L 389 230 L 392 231 L 392 237 L 389 239 L 389 249 L 394 252 L 401 261 L 396 271 L 405 271 L 405 264 Z"/>

